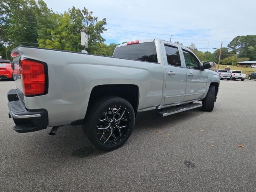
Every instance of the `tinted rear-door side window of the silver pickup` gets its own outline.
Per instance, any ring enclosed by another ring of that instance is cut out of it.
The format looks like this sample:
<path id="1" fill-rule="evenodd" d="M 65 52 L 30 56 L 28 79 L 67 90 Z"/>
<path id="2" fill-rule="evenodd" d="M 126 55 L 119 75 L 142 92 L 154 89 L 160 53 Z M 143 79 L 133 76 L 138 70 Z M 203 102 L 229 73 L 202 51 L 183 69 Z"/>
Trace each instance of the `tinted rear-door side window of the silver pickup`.
<path id="1" fill-rule="evenodd" d="M 181 67 L 180 54 L 177 47 L 165 45 L 167 62 L 170 65 Z"/>

